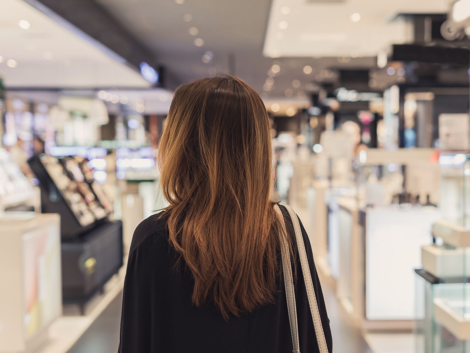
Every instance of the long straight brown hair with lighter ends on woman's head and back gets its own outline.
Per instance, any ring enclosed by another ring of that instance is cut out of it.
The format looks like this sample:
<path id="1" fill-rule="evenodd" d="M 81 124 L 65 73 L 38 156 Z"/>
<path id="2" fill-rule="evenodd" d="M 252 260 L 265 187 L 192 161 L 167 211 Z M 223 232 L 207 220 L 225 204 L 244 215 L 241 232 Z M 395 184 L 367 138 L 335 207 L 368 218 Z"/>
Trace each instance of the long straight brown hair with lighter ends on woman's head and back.
<path id="1" fill-rule="evenodd" d="M 259 95 L 231 75 L 179 86 L 158 163 L 170 242 L 194 277 L 193 303 L 213 301 L 227 319 L 272 302 L 283 228 Z"/>

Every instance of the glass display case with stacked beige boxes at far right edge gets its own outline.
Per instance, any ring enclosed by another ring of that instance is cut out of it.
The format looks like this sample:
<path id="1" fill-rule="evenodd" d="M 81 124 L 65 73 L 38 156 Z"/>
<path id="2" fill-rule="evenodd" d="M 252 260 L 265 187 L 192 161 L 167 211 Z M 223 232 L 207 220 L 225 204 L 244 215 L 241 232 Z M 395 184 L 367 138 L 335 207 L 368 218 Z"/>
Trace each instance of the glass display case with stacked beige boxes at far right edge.
<path id="1" fill-rule="evenodd" d="M 417 353 L 470 352 L 470 155 L 439 157 L 440 211 L 416 269 Z"/>

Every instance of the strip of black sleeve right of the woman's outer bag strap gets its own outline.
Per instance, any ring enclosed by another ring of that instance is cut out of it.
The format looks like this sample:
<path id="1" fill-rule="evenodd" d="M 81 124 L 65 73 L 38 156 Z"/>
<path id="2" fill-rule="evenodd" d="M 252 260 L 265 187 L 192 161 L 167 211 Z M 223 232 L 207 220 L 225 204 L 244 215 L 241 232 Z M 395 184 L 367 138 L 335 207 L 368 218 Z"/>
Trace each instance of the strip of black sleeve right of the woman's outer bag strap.
<path id="1" fill-rule="evenodd" d="M 321 290 L 320 279 L 318 278 L 317 269 L 313 261 L 313 252 L 312 246 L 310 245 L 310 239 L 308 238 L 305 227 L 302 224 L 302 221 L 297 216 L 297 219 L 300 223 L 300 228 L 302 230 L 302 238 L 305 244 L 305 252 L 307 253 L 308 266 L 310 267 L 310 275 L 312 276 L 313 289 L 315 290 L 315 297 L 317 298 L 318 310 L 320 312 L 321 324 L 323 327 L 323 332 L 325 334 L 326 344 L 328 346 L 328 352 L 333 352 L 333 339 L 331 337 L 331 329 L 329 327 L 329 318 L 326 311 L 325 299 L 323 298 L 323 292 Z M 298 262 L 298 271 L 302 271 L 300 267 L 300 262 Z"/>

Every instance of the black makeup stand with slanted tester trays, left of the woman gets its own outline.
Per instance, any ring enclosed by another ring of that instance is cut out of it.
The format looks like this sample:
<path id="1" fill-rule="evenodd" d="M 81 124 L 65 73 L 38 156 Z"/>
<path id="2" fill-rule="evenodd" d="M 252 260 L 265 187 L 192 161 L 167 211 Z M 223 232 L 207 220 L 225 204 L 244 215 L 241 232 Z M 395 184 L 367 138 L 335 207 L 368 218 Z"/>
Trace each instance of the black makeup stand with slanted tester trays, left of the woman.
<path id="1" fill-rule="evenodd" d="M 122 222 L 81 157 L 41 155 L 28 163 L 39 179 L 42 212 L 62 218 L 63 300 L 86 301 L 123 264 Z"/>

